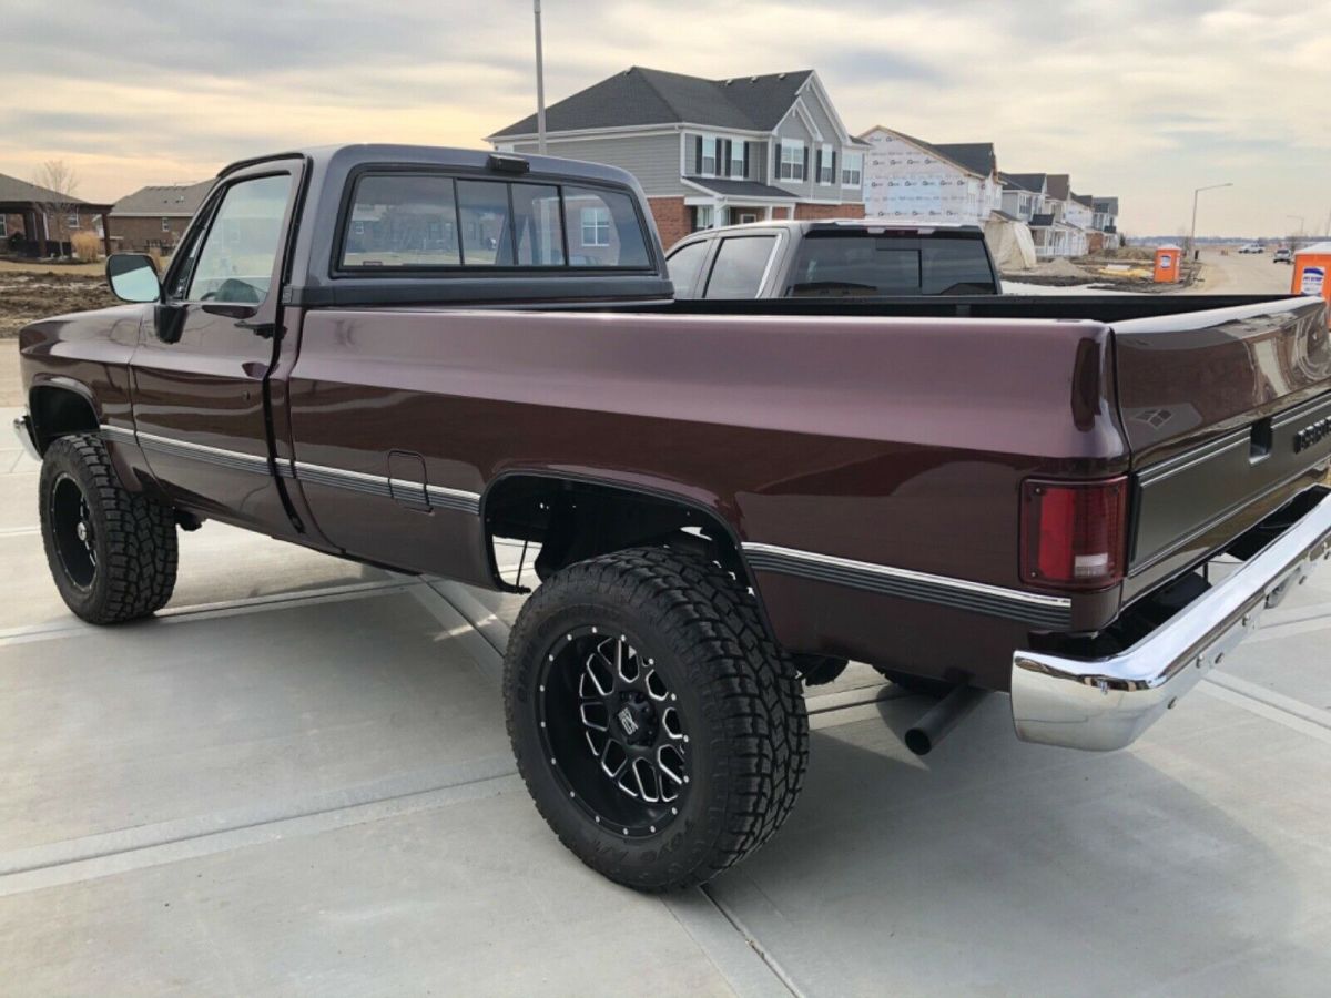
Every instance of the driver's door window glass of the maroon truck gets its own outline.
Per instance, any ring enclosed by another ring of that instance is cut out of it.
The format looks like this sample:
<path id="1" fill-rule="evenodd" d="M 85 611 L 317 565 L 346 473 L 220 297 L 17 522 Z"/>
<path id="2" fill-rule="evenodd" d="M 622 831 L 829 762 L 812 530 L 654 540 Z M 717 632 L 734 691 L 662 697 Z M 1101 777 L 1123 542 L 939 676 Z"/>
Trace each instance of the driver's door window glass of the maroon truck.
<path id="1" fill-rule="evenodd" d="M 182 271 L 190 273 L 189 301 L 258 305 L 268 297 L 290 192 L 287 174 L 242 180 L 226 190 L 198 261 L 192 273 Z"/>

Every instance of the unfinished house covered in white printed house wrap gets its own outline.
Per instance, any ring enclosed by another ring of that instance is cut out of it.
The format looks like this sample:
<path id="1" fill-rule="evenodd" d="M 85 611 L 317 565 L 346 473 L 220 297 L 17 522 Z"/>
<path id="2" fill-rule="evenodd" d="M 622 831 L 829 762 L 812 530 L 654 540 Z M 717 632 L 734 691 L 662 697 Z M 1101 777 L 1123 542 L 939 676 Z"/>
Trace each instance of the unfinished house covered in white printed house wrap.
<path id="1" fill-rule="evenodd" d="M 1002 208 L 993 142 L 926 142 L 882 125 L 860 140 L 866 218 L 984 225 Z"/>

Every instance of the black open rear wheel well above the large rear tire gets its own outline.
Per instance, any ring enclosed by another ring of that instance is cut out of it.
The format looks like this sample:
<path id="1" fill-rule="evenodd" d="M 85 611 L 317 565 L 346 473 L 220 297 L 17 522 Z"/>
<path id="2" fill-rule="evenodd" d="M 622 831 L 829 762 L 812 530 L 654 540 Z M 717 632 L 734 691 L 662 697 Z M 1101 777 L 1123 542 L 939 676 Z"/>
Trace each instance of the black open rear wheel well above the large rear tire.
<path id="1" fill-rule="evenodd" d="M 522 576 L 531 570 L 544 580 L 575 562 L 654 546 L 700 554 L 717 562 L 743 585 L 752 585 L 736 538 L 724 520 L 676 496 L 598 482 L 511 475 L 490 488 L 482 512 L 491 571 L 507 589 L 522 587 Z M 496 548 L 504 540 L 539 546 L 534 559 L 524 559 L 518 578 L 506 571 L 499 558 Z"/>

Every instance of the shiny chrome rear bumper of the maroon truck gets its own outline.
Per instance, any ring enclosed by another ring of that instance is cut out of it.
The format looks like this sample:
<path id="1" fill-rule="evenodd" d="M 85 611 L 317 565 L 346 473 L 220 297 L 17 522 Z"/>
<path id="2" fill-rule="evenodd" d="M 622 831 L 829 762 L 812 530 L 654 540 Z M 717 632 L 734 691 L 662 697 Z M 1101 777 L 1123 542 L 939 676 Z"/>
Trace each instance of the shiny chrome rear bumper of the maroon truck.
<path id="1" fill-rule="evenodd" d="M 1133 744 L 1275 607 L 1290 587 L 1331 560 L 1331 499 L 1323 499 L 1225 582 L 1107 659 L 1017 652 L 1012 716 L 1017 736 L 1106 752 Z"/>

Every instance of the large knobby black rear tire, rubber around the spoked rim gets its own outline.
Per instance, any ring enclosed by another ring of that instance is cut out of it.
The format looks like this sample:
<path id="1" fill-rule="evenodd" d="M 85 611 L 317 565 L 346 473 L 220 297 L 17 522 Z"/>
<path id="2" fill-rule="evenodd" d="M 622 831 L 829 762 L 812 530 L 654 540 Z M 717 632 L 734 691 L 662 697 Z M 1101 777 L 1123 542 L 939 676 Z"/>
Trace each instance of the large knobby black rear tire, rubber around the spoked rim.
<path id="1" fill-rule="evenodd" d="M 692 736 L 688 793 L 654 834 L 620 834 L 572 800 L 567 769 L 542 733 L 539 679 L 554 668 L 543 663 L 591 625 L 639 643 Z M 660 892 L 711 880 L 772 837 L 804 782 L 809 725 L 799 673 L 753 596 L 693 554 L 634 548 L 551 576 L 518 616 L 503 691 L 518 769 L 540 814 L 578 858 L 626 886 Z"/>

